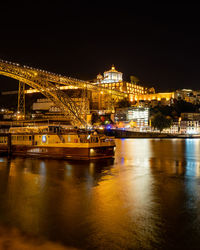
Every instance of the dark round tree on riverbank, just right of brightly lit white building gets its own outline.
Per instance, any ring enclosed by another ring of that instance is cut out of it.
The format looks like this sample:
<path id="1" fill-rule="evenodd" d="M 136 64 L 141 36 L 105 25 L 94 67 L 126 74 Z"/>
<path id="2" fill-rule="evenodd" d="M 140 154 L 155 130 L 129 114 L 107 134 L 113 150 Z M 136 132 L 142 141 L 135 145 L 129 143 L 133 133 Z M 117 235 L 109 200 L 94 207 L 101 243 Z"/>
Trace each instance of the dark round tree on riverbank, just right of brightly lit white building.
<path id="1" fill-rule="evenodd" d="M 162 132 L 164 128 L 170 128 L 172 125 L 172 119 L 169 116 L 164 116 L 161 113 L 157 113 L 151 120 L 151 125 Z"/>

